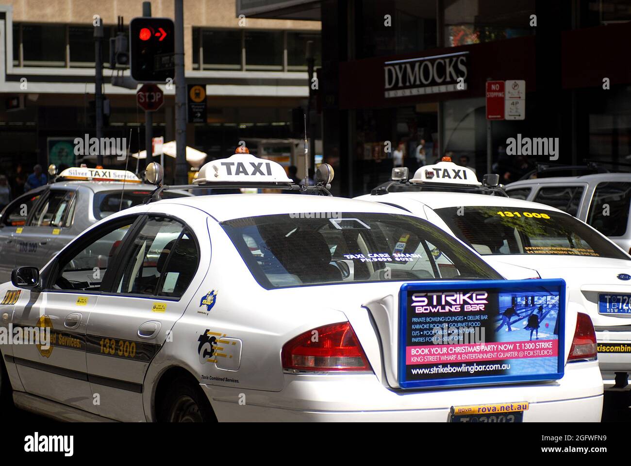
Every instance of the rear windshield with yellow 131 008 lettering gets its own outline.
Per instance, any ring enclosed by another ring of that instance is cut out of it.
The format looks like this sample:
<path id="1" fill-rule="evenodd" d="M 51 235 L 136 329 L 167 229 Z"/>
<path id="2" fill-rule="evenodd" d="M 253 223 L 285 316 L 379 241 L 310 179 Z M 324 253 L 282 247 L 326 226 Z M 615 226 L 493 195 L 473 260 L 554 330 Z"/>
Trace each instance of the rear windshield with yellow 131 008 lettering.
<path id="1" fill-rule="evenodd" d="M 454 234 L 480 254 L 558 254 L 628 259 L 570 215 L 502 206 L 437 209 Z"/>

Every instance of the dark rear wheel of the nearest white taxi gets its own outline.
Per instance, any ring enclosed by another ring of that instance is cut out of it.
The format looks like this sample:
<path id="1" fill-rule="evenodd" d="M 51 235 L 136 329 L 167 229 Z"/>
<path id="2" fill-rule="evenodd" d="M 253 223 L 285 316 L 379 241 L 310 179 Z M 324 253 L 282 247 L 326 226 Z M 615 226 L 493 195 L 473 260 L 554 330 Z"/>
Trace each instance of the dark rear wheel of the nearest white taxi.
<path id="1" fill-rule="evenodd" d="M 215 413 L 199 385 L 188 378 L 176 378 L 167 389 L 162 406 L 165 422 L 216 422 Z"/>

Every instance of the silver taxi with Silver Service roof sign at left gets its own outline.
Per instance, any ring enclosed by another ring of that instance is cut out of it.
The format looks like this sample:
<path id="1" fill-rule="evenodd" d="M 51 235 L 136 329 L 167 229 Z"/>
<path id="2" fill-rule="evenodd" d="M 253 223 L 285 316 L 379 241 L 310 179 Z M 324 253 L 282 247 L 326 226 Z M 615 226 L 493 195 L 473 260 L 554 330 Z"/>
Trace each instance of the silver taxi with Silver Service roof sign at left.
<path id="1" fill-rule="evenodd" d="M 154 188 L 126 170 L 83 166 L 63 170 L 56 182 L 16 198 L 0 215 L 0 282 L 8 281 L 16 266 L 44 266 L 87 227 L 142 203 Z"/>

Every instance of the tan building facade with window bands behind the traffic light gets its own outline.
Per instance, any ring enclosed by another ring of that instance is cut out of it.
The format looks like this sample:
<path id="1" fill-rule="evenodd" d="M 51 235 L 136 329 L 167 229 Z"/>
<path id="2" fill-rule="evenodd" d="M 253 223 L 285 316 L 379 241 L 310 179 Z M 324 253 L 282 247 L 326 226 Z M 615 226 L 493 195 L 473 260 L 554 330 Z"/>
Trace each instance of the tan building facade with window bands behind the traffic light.
<path id="1" fill-rule="evenodd" d="M 69 160 L 74 138 L 95 135 L 95 21 L 104 32 L 103 135 L 144 149 L 136 90 L 111 85 L 129 70 L 109 68 L 119 16 L 127 34 L 142 12 L 139 0 L 0 0 L 0 174 Z M 173 18 L 174 2 L 153 1 L 151 13 Z M 187 125 L 187 144 L 209 159 L 232 154 L 241 140 L 281 158 L 291 152 L 291 112 L 309 95 L 307 40 L 319 63 L 319 21 L 239 18 L 234 0 L 184 0 L 186 81 L 205 88 L 207 105 L 205 121 Z M 165 104 L 153 115 L 153 136 L 170 141 L 175 86 L 160 87 Z"/>

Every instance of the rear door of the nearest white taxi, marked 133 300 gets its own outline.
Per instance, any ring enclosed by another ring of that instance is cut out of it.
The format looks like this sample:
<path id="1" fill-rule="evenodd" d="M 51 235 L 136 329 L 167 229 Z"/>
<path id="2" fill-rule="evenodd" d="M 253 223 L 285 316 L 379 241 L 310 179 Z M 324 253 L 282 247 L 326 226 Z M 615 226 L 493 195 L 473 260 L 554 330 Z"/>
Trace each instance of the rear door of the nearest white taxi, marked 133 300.
<path id="1" fill-rule="evenodd" d="M 90 314 L 86 342 L 91 390 L 104 417 L 146 419 L 144 375 L 162 345 L 177 338 L 170 330 L 198 296 L 210 263 L 199 213 L 183 205 L 177 217 L 148 213 L 121 246 L 124 260 Z"/>

